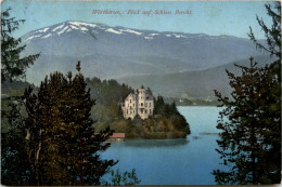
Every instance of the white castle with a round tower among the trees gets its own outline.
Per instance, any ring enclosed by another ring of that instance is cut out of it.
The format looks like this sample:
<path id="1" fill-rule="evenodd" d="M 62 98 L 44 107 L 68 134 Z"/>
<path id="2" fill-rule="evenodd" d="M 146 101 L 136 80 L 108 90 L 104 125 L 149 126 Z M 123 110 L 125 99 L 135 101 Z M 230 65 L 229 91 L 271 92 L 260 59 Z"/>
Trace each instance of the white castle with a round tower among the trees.
<path id="1" fill-rule="evenodd" d="M 142 86 L 134 94 L 130 93 L 121 106 L 124 118 L 133 119 L 137 115 L 141 119 L 148 119 L 153 115 L 154 97 Z"/>

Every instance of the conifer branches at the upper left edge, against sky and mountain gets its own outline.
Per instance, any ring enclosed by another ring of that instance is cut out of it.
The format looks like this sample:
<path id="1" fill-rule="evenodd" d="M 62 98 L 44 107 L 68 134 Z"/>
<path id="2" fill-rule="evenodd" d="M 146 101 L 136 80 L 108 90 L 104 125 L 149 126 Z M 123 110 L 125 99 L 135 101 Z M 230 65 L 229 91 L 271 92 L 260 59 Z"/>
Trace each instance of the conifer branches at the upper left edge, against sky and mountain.
<path id="1" fill-rule="evenodd" d="M 1 13 L 1 82 L 5 80 L 12 81 L 16 78 L 25 76 L 25 70 L 29 65 L 34 64 L 39 54 L 21 57 L 20 54 L 25 50 L 26 45 L 21 44 L 21 38 L 12 37 L 13 31 L 18 29 L 18 25 L 24 23 L 24 19 L 15 19 L 10 17 L 10 11 Z"/>

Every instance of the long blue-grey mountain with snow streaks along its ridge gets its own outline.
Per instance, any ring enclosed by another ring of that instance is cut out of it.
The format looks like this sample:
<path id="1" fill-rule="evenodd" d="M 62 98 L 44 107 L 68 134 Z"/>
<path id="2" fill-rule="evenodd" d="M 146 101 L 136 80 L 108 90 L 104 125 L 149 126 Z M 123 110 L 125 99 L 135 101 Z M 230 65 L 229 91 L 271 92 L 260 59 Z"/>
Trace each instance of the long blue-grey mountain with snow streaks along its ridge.
<path id="1" fill-rule="evenodd" d="M 54 70 L 75 70 L 81 61 L 86 77 L 102 79 L 164 76 L 214 68 L 261 55 L 248 39 L 171 31 L 110 27 L 104 24 L 64 22 L 22 37 L 23 55 L 41 52 L 27 70 L 38 84 Z"/>

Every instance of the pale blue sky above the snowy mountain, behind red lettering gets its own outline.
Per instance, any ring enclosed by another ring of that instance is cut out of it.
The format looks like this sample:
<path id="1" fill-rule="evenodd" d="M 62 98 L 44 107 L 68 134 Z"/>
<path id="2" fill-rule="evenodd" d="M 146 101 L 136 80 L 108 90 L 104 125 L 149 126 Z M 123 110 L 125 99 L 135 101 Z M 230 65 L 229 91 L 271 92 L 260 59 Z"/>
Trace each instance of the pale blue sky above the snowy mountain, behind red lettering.
<path id="1" fill-rule="evenodd" d="M 1 11 L 12 8 L 11 16 L 26 19 L 13 35 L 21 37 L 28 31 L 59 24 L 65 21 L 101 23 L 108 26 L 124 26 L 157 31 L 187 34 L 229 35 L 248 38 L 249 26 L 258 39 L 265 39 L 256 15 L 267 25 L 265 1 L 35 1 L 4 0 Z M 93 10 L 119 11 L 120 14 L 93 14 Z M 139 10 L 139 14 L 127 14 Z M 142 14 L 151 11 L 150 15 Z M 171 14 L 154 14 L 155 11 Z M 175 14 L 177 10 L 191 14 Z"/>

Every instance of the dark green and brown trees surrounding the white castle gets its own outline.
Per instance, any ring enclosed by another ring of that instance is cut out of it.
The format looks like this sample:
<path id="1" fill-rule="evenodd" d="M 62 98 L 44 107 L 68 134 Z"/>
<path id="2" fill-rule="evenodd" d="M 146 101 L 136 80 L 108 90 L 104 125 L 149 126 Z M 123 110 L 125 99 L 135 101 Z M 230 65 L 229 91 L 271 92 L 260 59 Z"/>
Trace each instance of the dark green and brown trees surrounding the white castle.
<path id="1" fill-rule="evenodd" d="M 100 101 L 92 108 L 92 117 L 98 120 L 97 130 L 110 126 L 115 132 L 126 133 L 126 138 L 181 138 L 191 133 L 176 104 L 165 104 L 162 96 L 155 101 L 153 117 L 142 120 L 136 116 L 126 120 L 120 104 L 129 93 L 133 93 L 131 88 L 115 80 L 101 81 L 98 78 L 87 79 L 87 82 L 92 90 L 91 97 Z M 148 92 L 152 91 L 148 89 Z"/>

